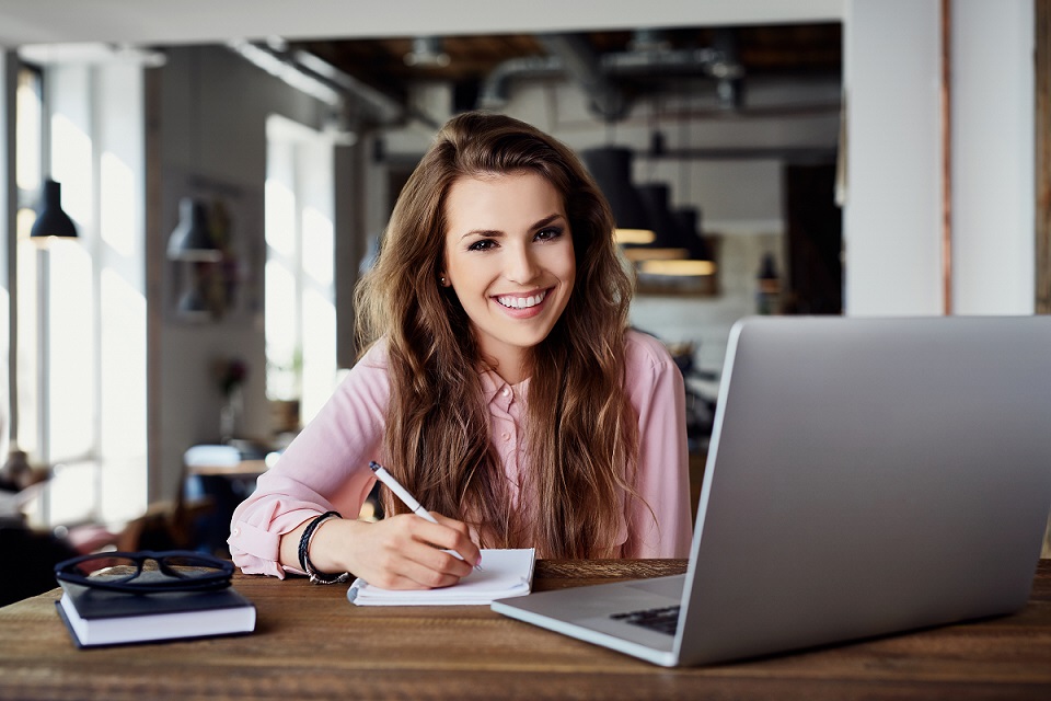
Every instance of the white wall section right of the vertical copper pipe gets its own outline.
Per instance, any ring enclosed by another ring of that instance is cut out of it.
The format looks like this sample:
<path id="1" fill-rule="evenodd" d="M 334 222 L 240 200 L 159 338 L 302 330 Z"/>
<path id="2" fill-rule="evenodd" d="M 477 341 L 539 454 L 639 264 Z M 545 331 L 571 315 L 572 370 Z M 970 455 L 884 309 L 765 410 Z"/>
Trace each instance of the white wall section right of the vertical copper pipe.
<path id="1" fill-rule="evenodd" d="M 1032 5 L 952 2 L 952 309 L 959 314 L 1035 311 Z"/>

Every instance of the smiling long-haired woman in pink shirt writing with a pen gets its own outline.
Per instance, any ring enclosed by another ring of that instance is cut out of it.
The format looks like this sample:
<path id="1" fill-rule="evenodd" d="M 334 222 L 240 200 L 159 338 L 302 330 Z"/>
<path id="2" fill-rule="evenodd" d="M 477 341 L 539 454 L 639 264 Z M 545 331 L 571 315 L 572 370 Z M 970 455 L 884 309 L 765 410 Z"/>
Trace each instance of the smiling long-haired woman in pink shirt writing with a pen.
<path id="1" fill-rule="evenodd" d="M 426 588 L 466 575 L 480 547 L 685 556 L 682 377 L 627 330 L 612 231 L 564 145 L 501 115 L 453 117 L 357 289 L 367 352 L 238 507 L 234 562 Z M 330 514 L 358 514 L 371 460 L 438 522 L 389 494 L 376 524 Z"/>

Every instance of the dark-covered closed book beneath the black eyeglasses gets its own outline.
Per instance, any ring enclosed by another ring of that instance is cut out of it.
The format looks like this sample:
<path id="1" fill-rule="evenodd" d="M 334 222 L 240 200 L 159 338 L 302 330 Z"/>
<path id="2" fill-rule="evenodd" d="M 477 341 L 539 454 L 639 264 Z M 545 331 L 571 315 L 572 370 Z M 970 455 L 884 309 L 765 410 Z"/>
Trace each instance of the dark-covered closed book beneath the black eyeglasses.
<path id="1" fill-rule="evenodd" d="M 251 633 L 255 606 L 232 587 L 125 594 L 60 582 L 55 602 L 78 647 Z"/>

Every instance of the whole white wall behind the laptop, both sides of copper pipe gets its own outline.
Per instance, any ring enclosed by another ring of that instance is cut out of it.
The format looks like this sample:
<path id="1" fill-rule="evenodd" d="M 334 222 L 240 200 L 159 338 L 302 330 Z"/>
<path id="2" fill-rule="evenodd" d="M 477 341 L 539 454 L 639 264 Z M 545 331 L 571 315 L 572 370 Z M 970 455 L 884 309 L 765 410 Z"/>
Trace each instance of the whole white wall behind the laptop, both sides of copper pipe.
<path id="1" fill-rule="evenodd" d="M 955 313 L 1033 311 L 1029 0 L 951 5 Z M 847 0 L 846 312 L 940 314 L 940 15 Z"/>

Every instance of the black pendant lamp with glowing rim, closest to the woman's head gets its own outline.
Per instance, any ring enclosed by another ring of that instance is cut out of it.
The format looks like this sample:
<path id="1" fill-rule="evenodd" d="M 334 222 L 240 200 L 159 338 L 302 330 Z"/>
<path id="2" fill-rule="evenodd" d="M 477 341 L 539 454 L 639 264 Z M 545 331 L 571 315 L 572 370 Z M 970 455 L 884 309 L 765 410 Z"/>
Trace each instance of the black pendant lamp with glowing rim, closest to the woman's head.
<path id="1" fill-rule="evenodd" d="M 584 150 L 580 158 L 610 203 L 616 222 L 616 242 L 622 245 L 651 243 L 654 230 L 638 192 L 632 184 L 631 149 L 605 146 Z"/>

